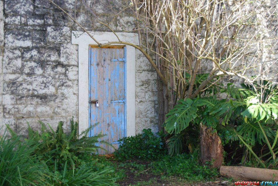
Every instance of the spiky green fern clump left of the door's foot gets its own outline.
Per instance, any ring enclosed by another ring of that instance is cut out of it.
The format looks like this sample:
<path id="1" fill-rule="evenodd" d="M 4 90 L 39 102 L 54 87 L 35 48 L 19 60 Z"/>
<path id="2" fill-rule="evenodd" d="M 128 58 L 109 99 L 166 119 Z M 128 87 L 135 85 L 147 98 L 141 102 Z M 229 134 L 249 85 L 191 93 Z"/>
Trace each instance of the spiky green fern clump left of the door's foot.
<path id="1" fill-rule="evenodd" d="M 87 128 L 81 134 L 78 135 L 78 123 L 70 120 L 70 131 L 65 133 L 63 130 L 63 121 L 59 121 L 56 127 L 56 131 L 48 124 L 46 125 L 39 121 L 41 125 L 41 132 L 32 130 L 28 124 L 28 139 L 33 139 L 34 144 L 37 146 L 35 153 L 43 155 L 43 160 L 50 166 L 57 161 L 58 169 L 62 169 L 65 161 L 70 162 L 72 167 L 78 165 L 78 156 L 82 153 L 96 152 L 98 147 L 96 143 L 106 143 L 105 141 L 99 141 L 98 139 L 103 137 L 102 134 L 88 137 L 88 133 L 96 125 L 92 125 Z M 12 135 L 14 132 L 7 126 Z M 39 145 L 38 145 L 39 144 Z M 109 144 L 108 144 L 109 145 Z"/>

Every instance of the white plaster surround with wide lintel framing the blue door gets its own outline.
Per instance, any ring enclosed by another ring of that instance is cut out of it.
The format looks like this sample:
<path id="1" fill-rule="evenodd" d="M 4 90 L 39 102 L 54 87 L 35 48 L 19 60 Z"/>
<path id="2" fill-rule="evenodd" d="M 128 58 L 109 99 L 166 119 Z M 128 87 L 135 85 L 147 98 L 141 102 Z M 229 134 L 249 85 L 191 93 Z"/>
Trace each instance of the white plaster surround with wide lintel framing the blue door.
<path id="1" fill-rule="evenodd" d="M 91 32 L 98 42 L 118 41 L 113 32 Z M 116 32 L 121 41 L 139 45 L 138 34 Z M 97 43 L 85 32 L 72 31 L 72 44 L 78 45 L 78 122 L 79 132 L 89 127 L 89 45 Z M 119 45 L 119 44 L 115 44 Z M 127 136 L 135 135 L 135 48 L 126 45 L 127 50 Z"/>

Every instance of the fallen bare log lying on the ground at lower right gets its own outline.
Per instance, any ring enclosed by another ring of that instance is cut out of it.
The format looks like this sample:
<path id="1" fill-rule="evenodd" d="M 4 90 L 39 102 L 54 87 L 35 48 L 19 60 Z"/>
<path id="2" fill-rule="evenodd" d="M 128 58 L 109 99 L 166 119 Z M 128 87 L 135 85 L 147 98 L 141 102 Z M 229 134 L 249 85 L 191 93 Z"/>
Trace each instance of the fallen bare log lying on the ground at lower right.
<path id="1" fill-rule="evenodd" d="M 278 170 L 243 166 L 221 166 L 220 175 L 244 181 L 278 181 Z"/>

